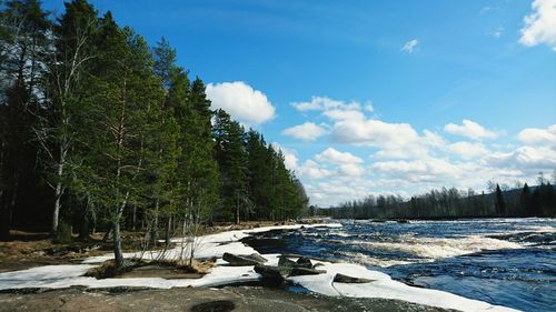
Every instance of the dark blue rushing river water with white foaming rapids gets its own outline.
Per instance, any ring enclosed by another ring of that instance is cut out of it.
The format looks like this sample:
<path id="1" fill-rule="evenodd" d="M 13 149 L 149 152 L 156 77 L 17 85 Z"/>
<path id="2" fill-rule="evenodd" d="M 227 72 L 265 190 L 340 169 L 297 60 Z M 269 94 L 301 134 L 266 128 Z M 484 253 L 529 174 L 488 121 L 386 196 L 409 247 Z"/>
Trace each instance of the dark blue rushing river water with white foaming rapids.
<path id="1" fill-rule="evenodd" d="M 524 311 L 556 311 L 556 220 L 338 221 L 245 240 L 259 253 L 363 264 L 407 284 Z"/>

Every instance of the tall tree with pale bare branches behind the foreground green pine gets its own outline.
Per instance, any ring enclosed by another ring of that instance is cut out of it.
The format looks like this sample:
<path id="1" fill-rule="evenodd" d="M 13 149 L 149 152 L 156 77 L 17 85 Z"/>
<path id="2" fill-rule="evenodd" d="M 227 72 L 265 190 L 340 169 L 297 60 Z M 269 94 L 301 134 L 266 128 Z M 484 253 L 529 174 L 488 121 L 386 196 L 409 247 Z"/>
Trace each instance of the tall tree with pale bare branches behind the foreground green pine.
<path id="1" fill-rule="evenodd" d="M 50 172 L 49 184 L 54 191 L 52 233 L 57 232 L 62 197 L 71 183 L 73 121 L 88 88 L 85 81 L 96 57 L 93 41 L 98 27 L 97 11 L 86 0 L 73 0 L 64 6 L 66 12 L 54 27 L 56 51 L 49 62 L 48 107 L 36 129 Z"/>

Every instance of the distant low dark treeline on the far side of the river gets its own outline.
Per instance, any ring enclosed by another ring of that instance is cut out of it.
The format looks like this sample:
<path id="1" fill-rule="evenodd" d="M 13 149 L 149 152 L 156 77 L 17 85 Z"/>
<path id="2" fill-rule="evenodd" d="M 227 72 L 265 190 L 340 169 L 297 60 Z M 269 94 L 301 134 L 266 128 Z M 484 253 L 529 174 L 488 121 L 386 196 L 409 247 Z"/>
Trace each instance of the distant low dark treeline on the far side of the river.
<path id="1" fill-rule="evenodd" d="M 368 195 L 318 213 L 338 219 L 556 217 L 556 189 L 542 174 L 538 182 L 535 187 L 525 183 L 510 189 L 489 181 L 488 193 L 443 188 L 409 200 L 400 195 Z"/>

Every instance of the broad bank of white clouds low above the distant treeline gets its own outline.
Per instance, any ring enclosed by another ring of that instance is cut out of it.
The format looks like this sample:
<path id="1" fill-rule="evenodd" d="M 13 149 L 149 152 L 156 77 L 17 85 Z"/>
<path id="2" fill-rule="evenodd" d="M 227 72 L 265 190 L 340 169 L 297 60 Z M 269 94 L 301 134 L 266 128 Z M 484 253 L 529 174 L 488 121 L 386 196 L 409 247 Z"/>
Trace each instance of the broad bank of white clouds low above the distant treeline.
<path id="1" fill-rule="evenodd" d="M 413 195 L 443 187 L 480 192 L 488 180 L 534 183 L 538 171 L 556 168 L 556 124 L 524 129 L 516 142 L 487 144 L 487 139 L 504 132 L 463 120 L 446 124 L 444 131 L 473 140 L 449 142 L 451 137 L 444 138 L 443 132 L 417 131 L 409 123 L 368 118 L 371 104 L 354 103 L 314 98 L 292 104 L 301 112 L 318 111 L 316 118 L 327 119 L 319 125 L 314 123 L 326 131 L 321 135 L 350 145 L 349 152 L 329 147 L 300 162 L 296 158 L 296 172 L 312 203 L 328 207 L 370 193 Z M 369 158 L 364 161 L 354 151 Z"/>

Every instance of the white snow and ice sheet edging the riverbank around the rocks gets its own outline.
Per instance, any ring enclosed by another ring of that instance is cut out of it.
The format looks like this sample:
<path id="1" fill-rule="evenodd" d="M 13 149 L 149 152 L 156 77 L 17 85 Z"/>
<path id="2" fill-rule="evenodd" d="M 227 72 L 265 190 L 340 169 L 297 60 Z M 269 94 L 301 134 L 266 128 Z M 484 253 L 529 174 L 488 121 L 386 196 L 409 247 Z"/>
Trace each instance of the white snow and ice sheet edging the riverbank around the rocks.
<path id="1" fill-rule="evenodd" d="M 228 231 L 201 238 L 200 248 L 196 252 L 197 258 L 221 258 L 224 252 L 231 253 L 254 253 L 252 248 L 244 245 L 240 239 L 251 233 L 270 230 L 295 230 L 301 227 L 341 227 L 341 224 L 315 224 L 315 225 L 282 225 L 257 228 L 252 230 Z M 179 240 L 179 239 L 178 239 Z M 168 258 L 177 256 L 179 249 L 171 250 Z M 137 256 L 138 253 L 126 253 L 126 258 Z M 156 252 L 148 252 L 145 258 L 155 258 Z M 268 259 L 269 265 L 278 263 L 279 254 L 264 254 Z M 219 259 L 217 266 L 210 273 L 200 279 L 176 279 L 165 280 L 161 278 L 135 278 L 135 279 L 103 279 L 87 278 L 83 274 L 90 268 L 106 260 L 112 259 L 111 254 L 89 258 L 83 264 L 76 265 L 47 265 L 22 271 L 0 273 L 0 290 L 24 289 L 24 288 L 68 288 L 71 285 L 83 285 L 89 288 L 112 288 L 112 286 L 147 286 L 158 289 L 169 289 L 176 286 L 218 286 L 238 282 L 257 281 L 260 275 L 254 271 L 254 266 L 228 266 Z M 309 291 L 331 295 L 353 298 L 385 298 L 409 301 L 414 303 L 455 309 L 460 311 L 516 311 L 505 306 L 492 305 L 486 302 L 466 299 L 448 292 L 420 289 L 393 281 L 389 275 L 378 271 L 370 271 L 363 265 L 350 263 L 320 262 L 327 273 L 319 275 L 291 276 L 288 280 L 299 284 Z M 332 283 L 336 273 L 373 280 L 364 284 Z"/>

